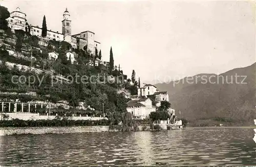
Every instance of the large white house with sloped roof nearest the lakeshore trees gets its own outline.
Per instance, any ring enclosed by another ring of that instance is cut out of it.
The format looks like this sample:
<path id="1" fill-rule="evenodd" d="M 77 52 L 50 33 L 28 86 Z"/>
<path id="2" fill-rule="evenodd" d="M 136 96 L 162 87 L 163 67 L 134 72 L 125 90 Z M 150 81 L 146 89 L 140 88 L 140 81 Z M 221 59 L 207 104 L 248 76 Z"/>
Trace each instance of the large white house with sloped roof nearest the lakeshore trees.
<path id="1" fill-rule="evenodd" d="M 127 112 L 140 119 L 144 119 L 150 115 L 151 112 L 156 111 L 156 107 L 152 106 L 150 98 L 130 100 L 127 102 Z"/>

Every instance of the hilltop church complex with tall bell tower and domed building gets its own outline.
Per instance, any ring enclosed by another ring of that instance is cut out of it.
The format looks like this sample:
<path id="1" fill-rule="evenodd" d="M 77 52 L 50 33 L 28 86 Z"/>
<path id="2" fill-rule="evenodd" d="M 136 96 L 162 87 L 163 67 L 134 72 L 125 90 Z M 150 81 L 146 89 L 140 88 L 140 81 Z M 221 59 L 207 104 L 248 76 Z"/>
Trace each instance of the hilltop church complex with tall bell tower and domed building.
<path id="1" fill-rule="evenodd" d="M 90 51 L 95 55 L 95 51 L 100 51 L 100 42 L 95 41 L 95 33 L 91 31 L 83 31 L 79 34 L 72 35 L 72 24 L 70 19 L 70 13 L 68 9 L 63 13 L 63 20 L 61 21 L 62 32 L 47 30 L 47 36 L 42 37 L 42 28 L 39 26 L 29 25 L 26 19 L 26 14 L 21 12 L 19 8 L 16 11 L 10 13 L 10 17 L 7 19 L 8 26 L 12 31 L 23 30 L 26 31 L 26 27 L 31 35 L 35 35 L 43 40 L 39 42 L 41 45 L 47 45 L 49 40 L 55 39 L 56 41 L 66 41 L 72 45 L 74 49 L 79 48 Z"/>

